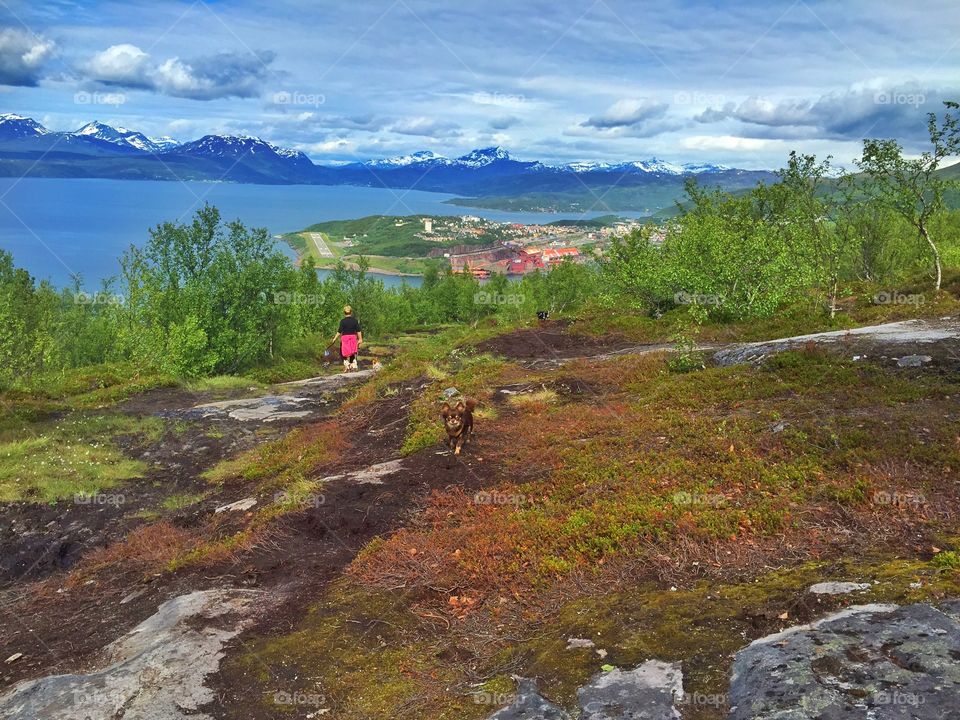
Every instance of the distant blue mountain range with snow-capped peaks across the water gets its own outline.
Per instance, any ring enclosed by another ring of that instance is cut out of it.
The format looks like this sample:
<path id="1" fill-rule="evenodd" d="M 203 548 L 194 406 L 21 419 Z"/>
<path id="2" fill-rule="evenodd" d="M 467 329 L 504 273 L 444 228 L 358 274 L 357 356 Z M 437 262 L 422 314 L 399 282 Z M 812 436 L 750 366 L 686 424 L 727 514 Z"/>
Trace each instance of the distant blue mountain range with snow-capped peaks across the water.
<path id="1" fill-rule="evenodd" d="M 313 163 L 298 150 L 255 137 L 206 135 L 191 142 L 177 142 L 98 121 L 73 132 L 55 132 L 32 118 L 10 113 L 0 115 L 0 176 L 358 185 L 415 188 L 487 200 L 524 196 L 542 199 L 613 188 L 618 197 L 623 197 L 624 190 L 628 195 L 630 188 L 640 191 L 637 203 L 626 201 L 638 207 L 616 209 L 649 205 L 643 200 L 642 188 L 669 188 L 672 197 L 682 191 L 689 177 L 727 189 L 749 187 L 774 177 L 768 171 L 677 165 L 657 158 L 548 165 L 517 160 L 500 147 L 473 150 L 457 158 L 425 150 L 327 166 Z"/>

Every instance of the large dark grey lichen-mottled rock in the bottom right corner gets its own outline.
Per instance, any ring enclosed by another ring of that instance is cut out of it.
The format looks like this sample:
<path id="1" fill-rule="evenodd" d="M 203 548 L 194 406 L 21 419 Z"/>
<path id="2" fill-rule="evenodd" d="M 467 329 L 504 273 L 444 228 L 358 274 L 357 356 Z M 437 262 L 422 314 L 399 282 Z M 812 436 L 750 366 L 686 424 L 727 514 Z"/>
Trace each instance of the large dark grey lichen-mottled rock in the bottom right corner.
<path id="1" fill-rule="evenodd" d="M 861 605 L 740 650 L 729 720 L 960 720 L 960 622 Z"/>

